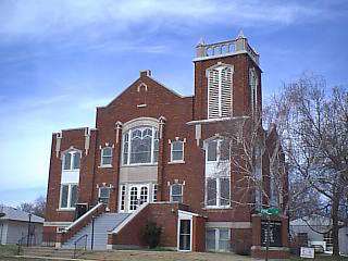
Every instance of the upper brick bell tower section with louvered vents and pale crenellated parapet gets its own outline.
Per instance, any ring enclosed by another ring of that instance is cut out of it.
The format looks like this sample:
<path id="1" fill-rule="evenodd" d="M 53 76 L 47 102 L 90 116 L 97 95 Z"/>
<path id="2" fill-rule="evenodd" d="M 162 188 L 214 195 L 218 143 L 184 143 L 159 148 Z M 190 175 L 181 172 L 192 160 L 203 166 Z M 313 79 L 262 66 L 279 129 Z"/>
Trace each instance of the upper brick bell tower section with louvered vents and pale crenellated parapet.
<path id="1" fill-rule="evenodd" d="M 243 32 L 236 39 L 196 46 L 196 121 L 250 115 L 261 109 L 259 53 Z"/>

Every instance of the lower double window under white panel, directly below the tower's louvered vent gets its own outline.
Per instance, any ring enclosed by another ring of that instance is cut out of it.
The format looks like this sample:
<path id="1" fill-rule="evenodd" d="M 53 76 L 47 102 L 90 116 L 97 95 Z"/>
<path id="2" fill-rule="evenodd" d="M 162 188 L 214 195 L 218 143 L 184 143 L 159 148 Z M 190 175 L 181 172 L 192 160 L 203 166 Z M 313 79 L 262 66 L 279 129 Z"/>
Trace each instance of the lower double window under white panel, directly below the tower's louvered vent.
<path id="1" fill-rule="evenodd" d="M 206 206 L 226 208 L 231 206 L 231 178 L 209 177 L 206 182 Z"/>

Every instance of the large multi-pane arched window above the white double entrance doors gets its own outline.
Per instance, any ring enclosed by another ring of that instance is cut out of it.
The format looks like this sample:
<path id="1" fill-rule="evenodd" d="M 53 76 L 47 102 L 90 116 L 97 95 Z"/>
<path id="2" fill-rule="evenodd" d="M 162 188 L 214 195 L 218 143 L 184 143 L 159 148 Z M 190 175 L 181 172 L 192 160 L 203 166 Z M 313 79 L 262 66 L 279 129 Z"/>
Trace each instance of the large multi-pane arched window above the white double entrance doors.
<path id="1" fill-rule="evenodd" d="M 152 126 L 130 128 L 123 135 L 123 164 L 156 163 L 159 153 L 159 134 Z"/>

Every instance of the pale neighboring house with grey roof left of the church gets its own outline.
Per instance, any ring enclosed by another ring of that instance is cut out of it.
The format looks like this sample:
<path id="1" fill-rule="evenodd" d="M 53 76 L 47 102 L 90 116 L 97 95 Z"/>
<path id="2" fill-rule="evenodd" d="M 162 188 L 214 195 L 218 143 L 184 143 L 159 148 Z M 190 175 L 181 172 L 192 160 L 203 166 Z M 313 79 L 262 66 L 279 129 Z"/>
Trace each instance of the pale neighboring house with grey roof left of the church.
<path id="1" fill-rule="evenodd" d="M 20 239 L 27 243 L 29 234 L 30 245 L 41 245 L 44 219 L 30 215 L 22 210 L 0 206 L 0 244 L 17 244 Z"/>

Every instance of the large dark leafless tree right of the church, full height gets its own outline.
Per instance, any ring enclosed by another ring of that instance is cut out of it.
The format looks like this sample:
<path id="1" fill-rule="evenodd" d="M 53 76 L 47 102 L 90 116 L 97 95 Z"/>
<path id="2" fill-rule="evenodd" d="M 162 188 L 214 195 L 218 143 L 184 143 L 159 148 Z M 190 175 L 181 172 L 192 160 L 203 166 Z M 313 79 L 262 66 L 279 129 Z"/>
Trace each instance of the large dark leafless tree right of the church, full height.
<path id="1" fill-rule="evenodd" d="M 307 74 L 284 86 L 271 103 L 293 184 L 300 184 L 303 203 L 311 194 L 319 195 L 313 213 L 330 210 L 333 253 L 338 256 L 339 213 L 348 185 L 348 92 L 328 91 L 322 77 Z M 291 202 L 298 198 L 293 195 Z"/>

